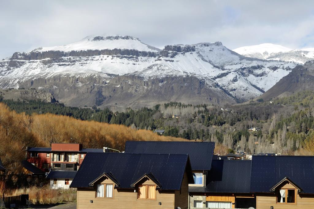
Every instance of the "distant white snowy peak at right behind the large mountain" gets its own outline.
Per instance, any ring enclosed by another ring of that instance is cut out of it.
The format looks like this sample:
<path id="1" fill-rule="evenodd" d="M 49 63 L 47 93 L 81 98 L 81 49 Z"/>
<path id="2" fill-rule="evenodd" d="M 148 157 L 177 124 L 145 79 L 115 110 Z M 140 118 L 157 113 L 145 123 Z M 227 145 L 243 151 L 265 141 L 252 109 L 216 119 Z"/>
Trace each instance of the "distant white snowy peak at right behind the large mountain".
<path id="1" fill-rule="evenodd" d="M 233 51 L 246 57 L 281 60 L 300 64 L 314 59 L 314 48 L 290 49 L 271 43 L 240 47 L 233 49 Z"/>

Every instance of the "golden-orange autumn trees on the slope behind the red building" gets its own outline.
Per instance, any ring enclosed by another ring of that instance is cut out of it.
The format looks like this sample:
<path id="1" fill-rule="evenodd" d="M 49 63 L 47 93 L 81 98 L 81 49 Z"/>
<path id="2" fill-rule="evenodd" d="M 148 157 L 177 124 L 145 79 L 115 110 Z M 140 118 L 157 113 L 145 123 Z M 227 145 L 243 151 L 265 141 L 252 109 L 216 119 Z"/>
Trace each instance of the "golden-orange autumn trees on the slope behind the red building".
<path id="1" fill-rule="evenodd" d="M 51 143 L 81 143 L 85 148 L 124 150 L 126 141 L 184 141 L 116 124 L 81 121 L 53 114 L 26 115 L 0 103 L 0 157 L 5 165 L 25 157 L 27 146 L 49 147 Z"/>

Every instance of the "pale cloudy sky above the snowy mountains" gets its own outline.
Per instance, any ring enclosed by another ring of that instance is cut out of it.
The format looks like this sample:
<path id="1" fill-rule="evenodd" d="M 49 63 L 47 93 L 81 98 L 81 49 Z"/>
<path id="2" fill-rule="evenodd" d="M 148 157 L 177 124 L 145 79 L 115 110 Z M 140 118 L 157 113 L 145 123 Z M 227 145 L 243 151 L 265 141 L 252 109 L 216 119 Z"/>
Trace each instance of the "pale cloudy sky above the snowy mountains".
<path id="1" fill-rule="evenodd" d="M 0 58 L 96 34 L 168 44 L 314 47 L 314 1 L 0 1 Z"/>

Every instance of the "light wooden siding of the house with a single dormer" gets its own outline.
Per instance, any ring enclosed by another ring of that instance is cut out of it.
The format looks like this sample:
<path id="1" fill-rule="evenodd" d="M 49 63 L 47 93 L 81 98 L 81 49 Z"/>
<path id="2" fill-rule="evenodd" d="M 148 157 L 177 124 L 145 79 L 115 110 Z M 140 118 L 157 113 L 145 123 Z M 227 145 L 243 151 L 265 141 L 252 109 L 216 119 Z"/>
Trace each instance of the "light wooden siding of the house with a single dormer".
<path id="1" fill-rule="evenodd" d="M 283 184 L 279 186 L 279 189 L 296 189 L 292 184 Z M 274 194 L 270 195 L 256 195 L 256 208 L 257 209 L 269 209 L 273 206 L 274 209 L 313 209 L 314 208 L 314 195 L 296 195 L 296 204 L 283 204 L 277 203 L 277 197 Z"/>

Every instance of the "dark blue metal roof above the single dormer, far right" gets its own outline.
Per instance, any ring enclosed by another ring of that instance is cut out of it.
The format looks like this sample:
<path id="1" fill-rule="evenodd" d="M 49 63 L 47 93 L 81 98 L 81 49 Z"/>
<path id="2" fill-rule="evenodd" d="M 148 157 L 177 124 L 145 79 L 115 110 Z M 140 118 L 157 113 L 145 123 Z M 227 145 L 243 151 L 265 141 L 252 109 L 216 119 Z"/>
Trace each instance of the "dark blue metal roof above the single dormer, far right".
<path id="1" fill-rule="evenodd" d="M 300 186 L 303 193 L 314 194 L 314 156 L 253 155 L 251 192 L 269 193 L 284 177 Z"/>

